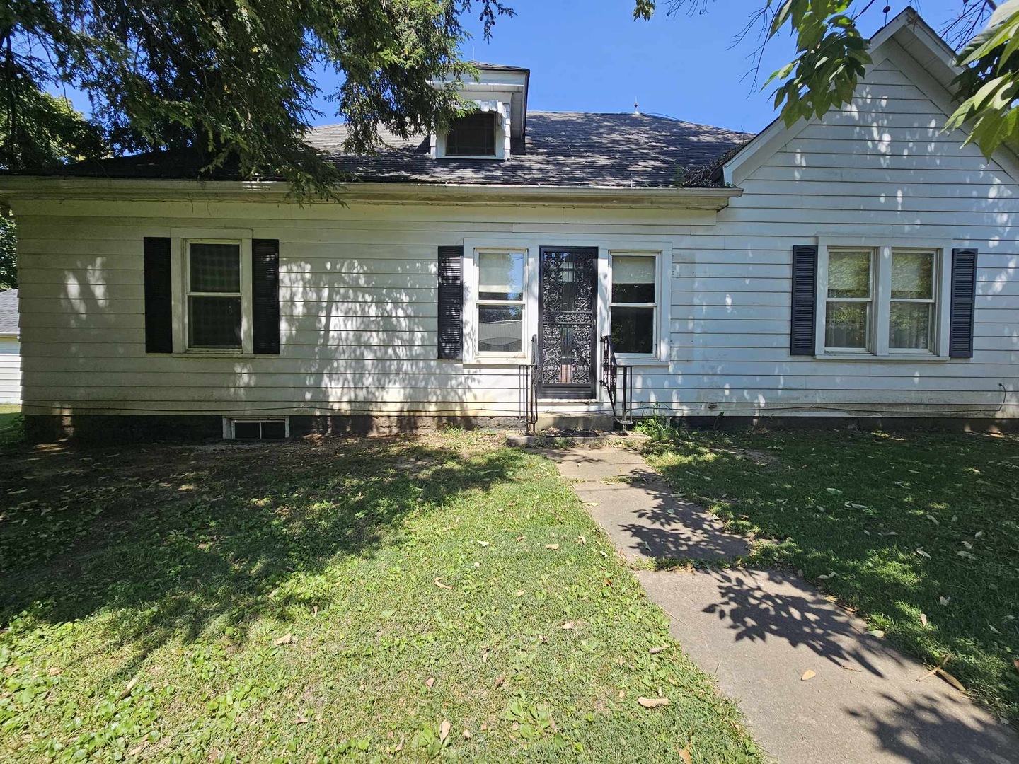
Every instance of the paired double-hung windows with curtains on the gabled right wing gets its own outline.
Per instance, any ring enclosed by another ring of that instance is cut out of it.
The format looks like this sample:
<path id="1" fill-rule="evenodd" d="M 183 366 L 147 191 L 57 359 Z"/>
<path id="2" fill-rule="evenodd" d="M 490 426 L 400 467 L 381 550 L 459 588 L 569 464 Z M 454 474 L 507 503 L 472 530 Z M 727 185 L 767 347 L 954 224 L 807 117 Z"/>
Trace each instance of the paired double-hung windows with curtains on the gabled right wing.
<path id="1" fill-rule="evenodd" d="M 828 247 L 818 284 L 826 354 L 947 353 L 942 249 Z M 944 341 L 943 341 L 944 340 Z"/>

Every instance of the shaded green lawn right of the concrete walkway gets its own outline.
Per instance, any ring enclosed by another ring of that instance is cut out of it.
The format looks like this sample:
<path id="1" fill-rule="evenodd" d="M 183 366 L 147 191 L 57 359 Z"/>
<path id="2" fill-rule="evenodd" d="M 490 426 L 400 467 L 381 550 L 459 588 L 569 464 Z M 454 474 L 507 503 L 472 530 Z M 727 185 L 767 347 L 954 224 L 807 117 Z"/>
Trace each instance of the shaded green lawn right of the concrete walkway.
<path id="1" fill-rule="evenodd" d="M 951 673 L 1019 721 L 1015 437 L 674 433 L 647 455 L 760 537 L 749 564 L 802 569 L 905 651 L 951 655 Z"/>

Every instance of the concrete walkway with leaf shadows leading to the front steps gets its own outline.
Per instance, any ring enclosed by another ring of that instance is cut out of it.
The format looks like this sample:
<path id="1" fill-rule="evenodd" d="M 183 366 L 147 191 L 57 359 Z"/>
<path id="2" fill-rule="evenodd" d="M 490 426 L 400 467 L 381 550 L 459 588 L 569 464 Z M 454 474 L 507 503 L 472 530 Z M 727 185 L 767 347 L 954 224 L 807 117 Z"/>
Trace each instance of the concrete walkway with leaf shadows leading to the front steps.
<path id="1" fill-rule="evenodd" d="M 631 561 L 729 559 L 746 542 L 623 448 L 547 451 Z M 796 576 L 638 569 L 688 655 L 780 764 L 1019 762 L 1019 734 Z M 806 671 L 814 675 L 804 680 Z"/>

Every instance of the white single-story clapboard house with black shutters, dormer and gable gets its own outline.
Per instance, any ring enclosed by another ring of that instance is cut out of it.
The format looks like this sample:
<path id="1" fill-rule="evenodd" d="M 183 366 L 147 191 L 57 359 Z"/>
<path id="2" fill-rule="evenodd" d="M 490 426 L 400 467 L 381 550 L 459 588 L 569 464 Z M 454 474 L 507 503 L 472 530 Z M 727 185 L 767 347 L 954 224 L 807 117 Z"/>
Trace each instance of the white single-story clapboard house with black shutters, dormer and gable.
<path id="1" fill-rule="evenodd" d="M 914 11 L 871 55 L 757 135 L 529 112 L 482 65 L 448 134 L 314 132 L 346 206 L 185 156 L 4 177 L 29 433 L 604 417 L 609 347 L 638 415 L 1014 419 L 1019 162 L 942 132 L 953 53 Z"/>

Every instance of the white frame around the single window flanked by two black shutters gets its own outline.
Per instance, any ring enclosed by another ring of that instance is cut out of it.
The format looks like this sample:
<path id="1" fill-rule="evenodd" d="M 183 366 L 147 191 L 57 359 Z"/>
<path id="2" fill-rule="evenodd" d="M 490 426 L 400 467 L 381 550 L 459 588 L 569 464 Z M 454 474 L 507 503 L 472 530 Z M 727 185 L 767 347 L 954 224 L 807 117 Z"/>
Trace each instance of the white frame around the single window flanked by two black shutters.
<path id="1" fill-rule="evenodd" d="M 252 324 L 252 238 L 251 229 L 171 229 L 170 259 L 173 288 L 173 353 L 194 358 L 246 357 L 254 356 L 254 335 Z M 269 237 L 269 236 L 266 236 Z M 240 245 L 240 341 L 237 347 L 189 347 L 187 346 L 187 295 L 191 292 L 189 257 L 192 243 L 239 244 Z"/>

